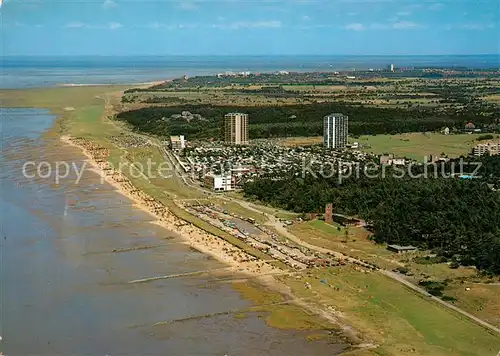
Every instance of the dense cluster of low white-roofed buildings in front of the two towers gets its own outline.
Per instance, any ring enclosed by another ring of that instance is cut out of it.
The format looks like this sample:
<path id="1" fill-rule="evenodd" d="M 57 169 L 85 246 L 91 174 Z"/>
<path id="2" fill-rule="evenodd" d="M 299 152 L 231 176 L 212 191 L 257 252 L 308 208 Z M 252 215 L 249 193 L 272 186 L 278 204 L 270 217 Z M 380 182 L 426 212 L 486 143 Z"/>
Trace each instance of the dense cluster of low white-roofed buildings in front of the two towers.
<path id="1" fill-rule="evenodd" d="M 252 145 L 201 143 L 176 155 L 192 177 L 214 191 L 241 188 L 263 175 L 280 176 L 290 171 L 319 172 L 325 167 L 344 171 L 371 155 L 361 151 L 336 151 L 324 147 L 283 147 L 271 142 Z"/>

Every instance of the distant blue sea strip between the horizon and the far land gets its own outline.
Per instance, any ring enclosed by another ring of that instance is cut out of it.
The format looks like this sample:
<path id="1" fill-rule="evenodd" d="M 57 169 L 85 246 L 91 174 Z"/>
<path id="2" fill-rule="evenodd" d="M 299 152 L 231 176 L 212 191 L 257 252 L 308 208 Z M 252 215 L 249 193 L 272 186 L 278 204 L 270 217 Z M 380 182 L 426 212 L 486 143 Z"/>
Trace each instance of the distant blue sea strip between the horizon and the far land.
<path id="1" fill-rule="evenodd" d="M 122 84 L 183 75 L 232 72 L 312 72 L 396 67 L 500 68 L 500 55 L 441 56 L 79 56 L 3 57 L 0 88 L 59 84 Z"/>

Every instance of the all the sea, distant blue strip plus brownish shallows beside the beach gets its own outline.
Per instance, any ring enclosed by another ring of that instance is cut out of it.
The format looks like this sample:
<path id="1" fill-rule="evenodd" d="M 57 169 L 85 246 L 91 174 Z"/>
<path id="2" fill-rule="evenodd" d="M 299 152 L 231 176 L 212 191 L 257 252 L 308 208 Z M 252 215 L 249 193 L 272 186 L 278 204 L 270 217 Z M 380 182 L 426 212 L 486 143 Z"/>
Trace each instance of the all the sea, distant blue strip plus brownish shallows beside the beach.
<path id="1" fill-rule="evenodd" d="M 498 67 L 498 56 L 40 57 L 2 59 L 0 87 L 137 83 L 220 71 L 401 66 Z M 226 266 L 154 224 L 50 134 L 55 117 L 0 108 L 0 352 L 25 355 L 336 355 L 342 342 L 270 327 Z M 41 162 L 46 162 L 41 165 Z M 31 169 L 25 164 L 31 163 Z M 37 167 L 37 174 L 33 171 Z M 52 171 L 51 171 L 52 170 Z M 151 248 L 134 250 L 136 247 Z M 121 252 L 116 252 L 116 251 Z M 211 270 L 148 283 L 138 279 Z M 228 282 L 229 280 L 229 282 Z M 244 314 L 244 317 L 241 317 Z M 240 317 L 236 317 L 239 315 Z"/>

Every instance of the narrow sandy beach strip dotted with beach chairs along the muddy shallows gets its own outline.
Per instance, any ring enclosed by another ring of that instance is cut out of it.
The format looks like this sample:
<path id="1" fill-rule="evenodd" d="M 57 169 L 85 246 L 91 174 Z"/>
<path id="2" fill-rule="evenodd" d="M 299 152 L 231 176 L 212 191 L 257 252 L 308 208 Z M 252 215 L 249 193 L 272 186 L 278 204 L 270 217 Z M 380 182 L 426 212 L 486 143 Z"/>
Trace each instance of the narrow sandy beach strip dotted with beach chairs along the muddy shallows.
<path id="1" fill-rule="evenodd" d="M 353 327 L 341 320 L 340 315 L 332 311 L 323 310 L 317 305 L 311 305 L 297 298 L 289 286 L 273 278 L 274 275 L 283 275 L 292 273 L 293 271 L 286 271 L 271 266 L 266 261 L 249 255 L 247 252 L 222 238 L 177 217 L 164 204 L 150 197 L 142 190 L 135 188 L 127 177 L 110 170 L 108 162 L 103 156 L 97 157 L 93 153 L 93 151 L 102 151 L 103 149 L 98 148 L 91 141 L 73 138 L 69 135 L 62 135 L 59 138 L 69 147 L 77 148 L 87 158 L 86 161 L 92 167 L 91 171 L 98 174 L 101 180 L 110 184 L 119 194 L 132 200 L 134 207 L 154 217 L 155 221 L 152 223 L 176 232 L 186 242 L 187 246 L 227 265 L 227 269 L 231 273 L 237 273 L 241 276 L 240 279 L 254 279 L 264 288 L 269 288 L 286 297 L 291 304 L 307 310 L 332 324 L 332 326 L 338 327 L 344 337 L 350 340 L 353 350 L 376 347 L 372 343 L 367 343 L 365 338 L 358 334 Z"/>

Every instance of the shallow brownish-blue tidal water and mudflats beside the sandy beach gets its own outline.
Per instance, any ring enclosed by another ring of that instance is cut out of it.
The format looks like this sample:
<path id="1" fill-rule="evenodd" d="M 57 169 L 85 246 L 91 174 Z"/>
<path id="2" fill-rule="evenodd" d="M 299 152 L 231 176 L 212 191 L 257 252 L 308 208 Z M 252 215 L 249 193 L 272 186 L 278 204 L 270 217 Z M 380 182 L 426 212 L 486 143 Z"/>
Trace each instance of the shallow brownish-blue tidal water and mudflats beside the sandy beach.
<path id="1" fill-rule="evenodd" d="M 54 118 L 2 109 L 0 134 L 0 351 L 13 355 L 333 355 L 342 345 L 307 342 L 249 314 L 253 304 L 216 274 L 150 283 L 130 281 L 222 271 L 175 232 L 85 171 L 55 184 L 28 179 L 22 166 L 50 157 L 82 164 L 78 150 L 41 140 Z M 158 245 L 113 253 L 114 249 Z M 222 272 L 221 272 L 222 273 Z M 206 314 L 216 316 L 203 318 Z M 194 318 L 191 318 L 194 317 Z M 197 318 L 201 317 L 201 318 Z M 169 321 L 162 326 L 155 323 Z"/>

